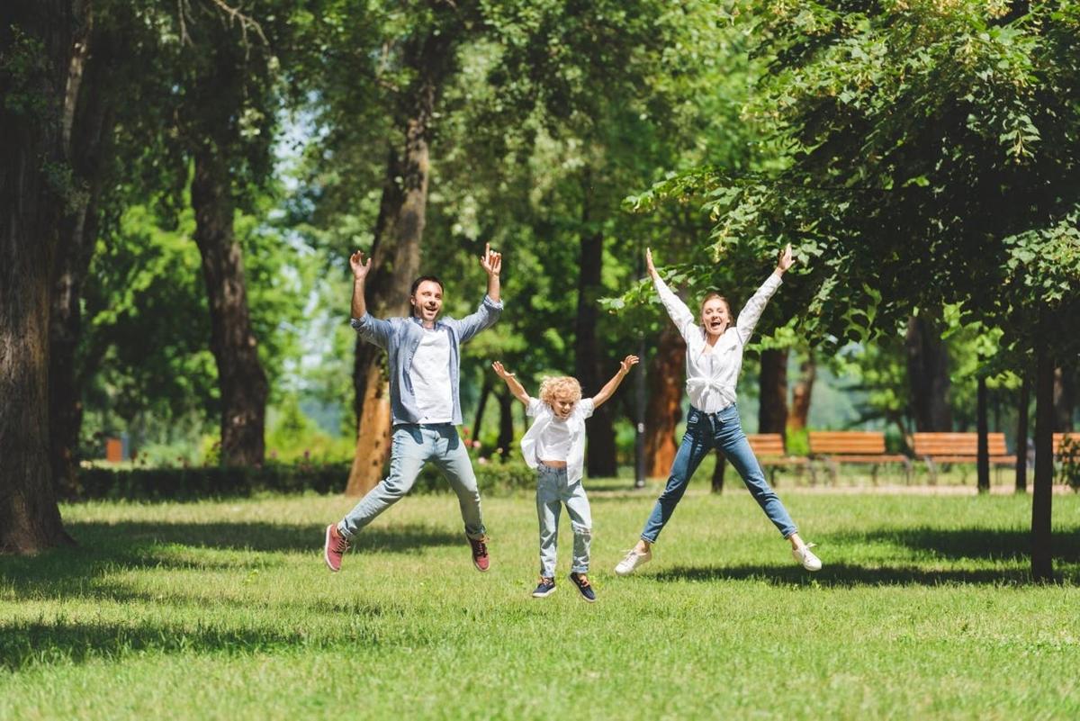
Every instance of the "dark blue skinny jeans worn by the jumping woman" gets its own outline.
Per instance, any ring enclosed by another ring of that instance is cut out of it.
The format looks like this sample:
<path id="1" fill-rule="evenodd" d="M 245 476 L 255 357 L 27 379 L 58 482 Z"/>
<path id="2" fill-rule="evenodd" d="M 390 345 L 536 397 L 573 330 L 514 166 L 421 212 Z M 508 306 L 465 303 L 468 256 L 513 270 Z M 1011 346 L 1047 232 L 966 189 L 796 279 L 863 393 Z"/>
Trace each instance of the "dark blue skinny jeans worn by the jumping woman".
<path id="1" fill-rule="evenodd" d="M 742 431 L 735 405 L 731 404 L 716 413 L 703 413 L 691 406 L 690 414 L 686 419 L 686 433 L 683 434 L 683 444 L 675 454 L 667 486 L 657 499 L 657 505 L 653 506 L 652 514 L 642 531 L 644 540 L 656 543 L 660 531 L 675 513 L 675 506 L 683 499 L 693 472 L 701 465 L 702 459 L 708 451 L 714 449 L 719 449 L 735 467 L 754 500 L 780 530 L 781 535 L 786 539 L 798 531 L 784 504 L 780 502 L 780 498 L 769 487 L 765 474 L 761 473 L 761 466 L 751 450 L 746 434 Z"/>

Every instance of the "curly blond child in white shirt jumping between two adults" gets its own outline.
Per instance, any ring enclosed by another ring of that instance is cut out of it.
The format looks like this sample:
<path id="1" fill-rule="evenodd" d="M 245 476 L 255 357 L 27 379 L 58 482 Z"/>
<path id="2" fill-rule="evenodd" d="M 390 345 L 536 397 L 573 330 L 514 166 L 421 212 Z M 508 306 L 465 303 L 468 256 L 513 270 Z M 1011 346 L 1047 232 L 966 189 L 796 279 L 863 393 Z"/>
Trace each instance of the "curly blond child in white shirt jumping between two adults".
<path id="1" fill-rule="evenodd" d="M 611 397 L 636 363 L 636 355 L 623 358 L 619 371 L 592 398 L 582 398 L 581 384 L 569 377 L 545 378 L 540 384 L 540 398 L 532 398 L 514 378 L 514 373 L 507 372 L 498 360 L 491 364 L 491 368 L 507 382 L 514 397 L 525 404 L 526 414 L 535 419 L 522 438 L 525 462 L 537 471 L 540 583 L 532 591 L 535 598 L 544 598 L 555 590 L 558 515 L 565 504 L 573 529 L 573 568 L 570 581 L 578 587 L 581 598 L 590 603 L 596 600 L 596 591 L 589 583 L 588 575 L 593 520 L 589 499 L 581 484 L 585 463 L 585 419 Z"/>

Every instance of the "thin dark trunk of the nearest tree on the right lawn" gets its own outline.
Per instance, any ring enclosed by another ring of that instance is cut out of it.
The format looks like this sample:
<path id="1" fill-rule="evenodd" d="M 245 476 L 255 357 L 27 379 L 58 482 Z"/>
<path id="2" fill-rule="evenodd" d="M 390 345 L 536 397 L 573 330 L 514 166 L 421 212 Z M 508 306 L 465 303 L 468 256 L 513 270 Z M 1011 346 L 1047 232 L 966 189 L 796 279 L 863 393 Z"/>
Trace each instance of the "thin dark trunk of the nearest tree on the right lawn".
<path id="1" fill-rule="evenodd" d="M 1040 340 L 1040 343 L 1045 341 Z M 1054 364 L 1043 345 L 1036 353 L 1035 490 L 1031 496 L 1031 577 L 1053 581 L 1051 546 L 1053 501 Z"/>

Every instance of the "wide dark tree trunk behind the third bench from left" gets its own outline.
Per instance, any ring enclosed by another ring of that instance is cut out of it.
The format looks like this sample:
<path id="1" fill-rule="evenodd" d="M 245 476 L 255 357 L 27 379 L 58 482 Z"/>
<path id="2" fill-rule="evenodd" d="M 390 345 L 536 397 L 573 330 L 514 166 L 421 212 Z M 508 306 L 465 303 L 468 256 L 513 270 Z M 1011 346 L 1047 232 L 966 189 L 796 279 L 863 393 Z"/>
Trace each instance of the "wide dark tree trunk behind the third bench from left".
<path id="1" fill-rule="evenodd" d="M 907 378 L 916 431 L 953 430 L 948 349 L 937 330 L 939 315 L 924 313 L 907 321 Z"/>

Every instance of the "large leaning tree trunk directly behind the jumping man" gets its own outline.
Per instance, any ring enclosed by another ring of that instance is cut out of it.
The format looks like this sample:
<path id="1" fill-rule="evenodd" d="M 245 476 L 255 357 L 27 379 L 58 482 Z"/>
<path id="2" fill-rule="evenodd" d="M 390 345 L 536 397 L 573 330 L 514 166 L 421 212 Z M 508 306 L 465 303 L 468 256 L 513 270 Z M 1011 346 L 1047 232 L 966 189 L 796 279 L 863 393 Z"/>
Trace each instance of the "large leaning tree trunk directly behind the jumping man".
<path id="1" fill-rule="evenodd" d="M 365 286 L 367 310 L 377 317 L 408 315 L 408 290 L 420 270 L 420 243 L 427 220 L 429 141 L 438 91 L 453 51 L 446 33 L 432 32 L 409 65 L 419 78 L 411 87 L 411 109 L 404 121 L 405 147 L 391 150 L 372 246 L 372 273 Z M 384 353 L 356 342 L 356 451 L 346 493 L 363 495 L 382 476 L 390 453 L 390 389 Z M 375 404 L 377 407 L 368 407 Z"/>

